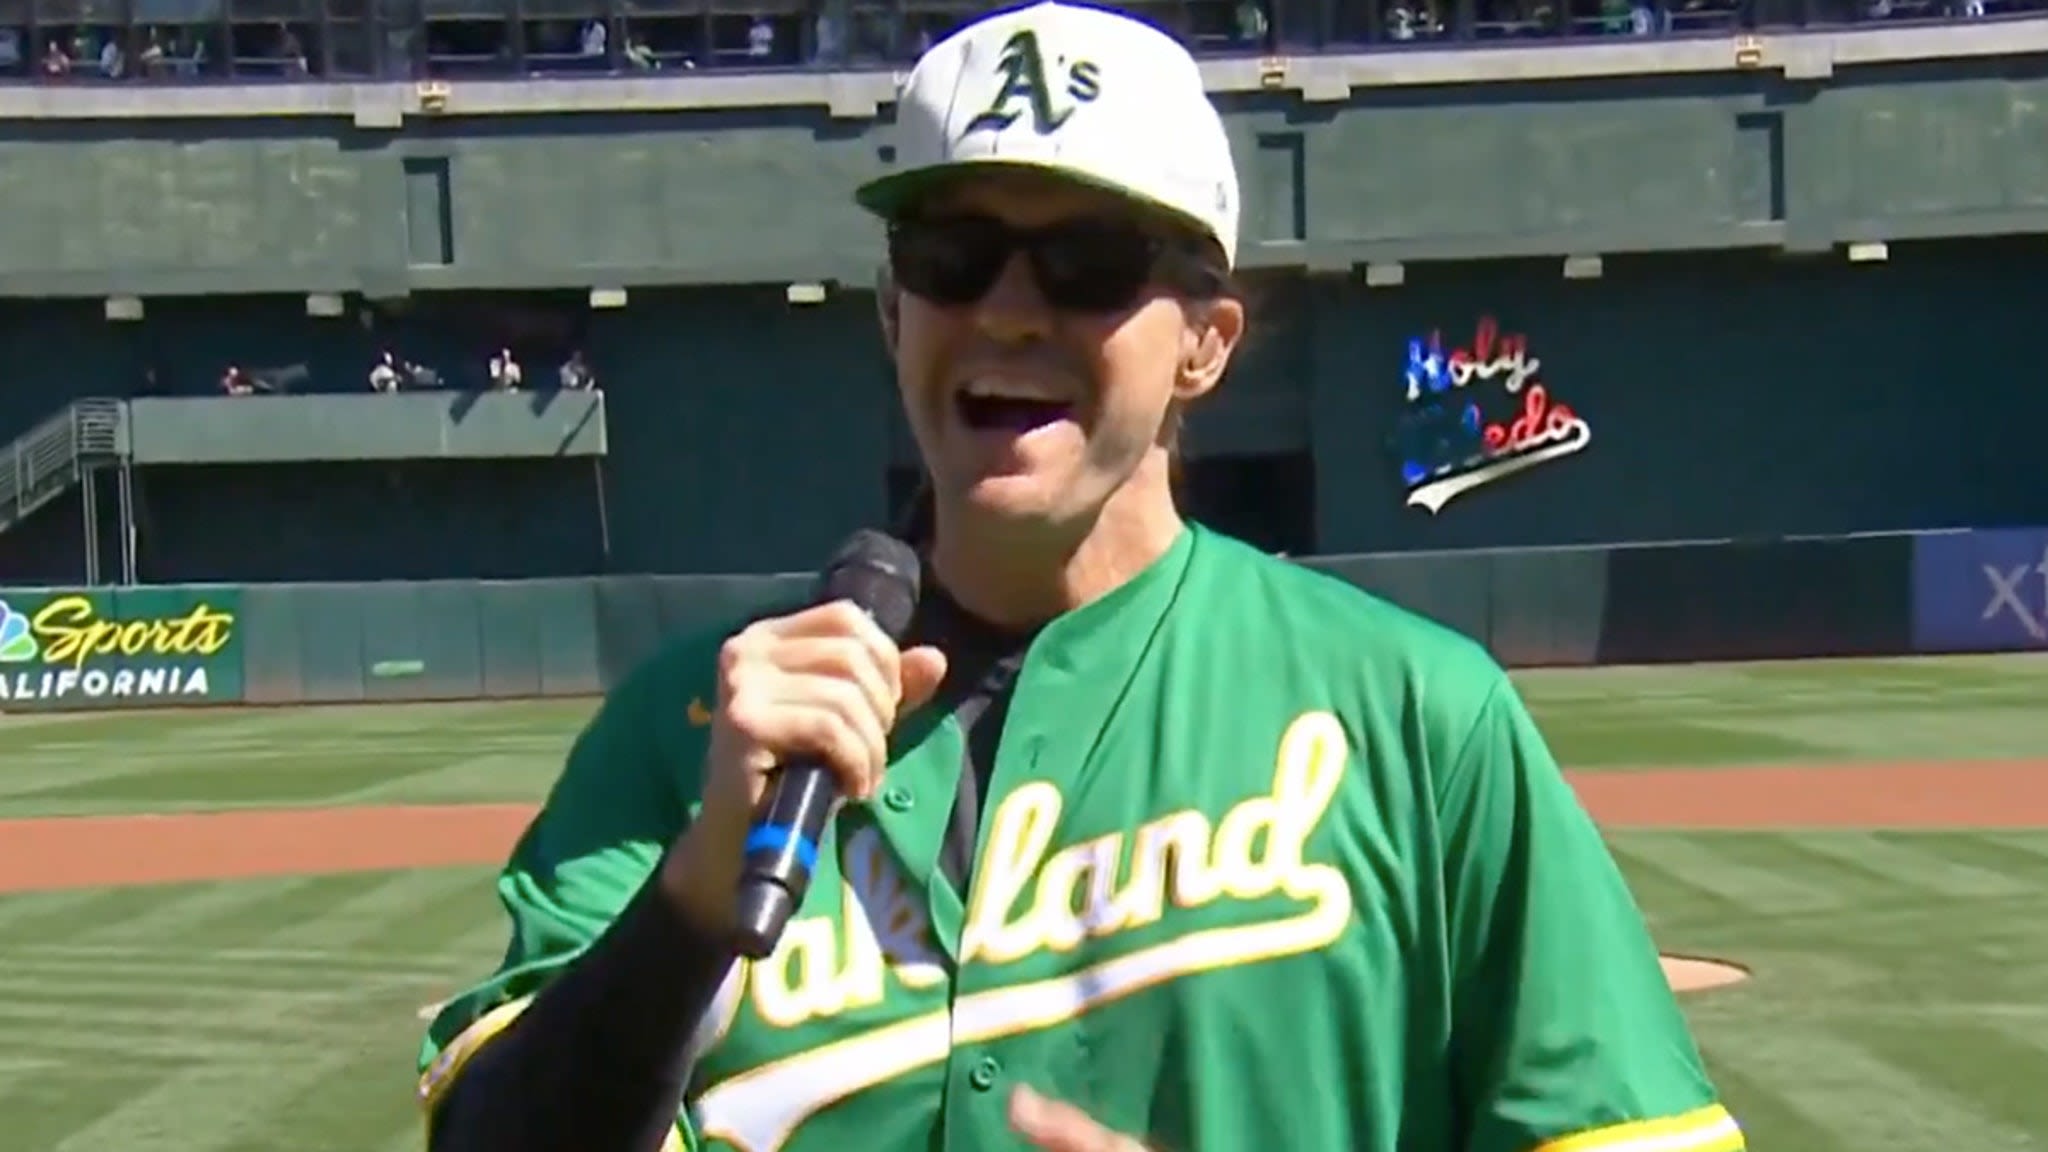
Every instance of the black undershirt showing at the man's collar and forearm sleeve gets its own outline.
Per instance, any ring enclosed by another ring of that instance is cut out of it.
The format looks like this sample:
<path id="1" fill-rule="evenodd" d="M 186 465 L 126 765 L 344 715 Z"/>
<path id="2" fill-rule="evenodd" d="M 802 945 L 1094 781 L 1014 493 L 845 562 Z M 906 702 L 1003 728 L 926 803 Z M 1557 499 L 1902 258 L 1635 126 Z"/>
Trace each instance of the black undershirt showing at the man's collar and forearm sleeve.
<path id="1" fill-rule="evenodd" d="M 940 873 L 967 892 L 1016 672 L 1030 633 L 926 588 L 911 644 L 946 654 L 932 707 L 965 734 Z M 733 965 L 731 947 L 668 900 L 655 867 L 616 920 L 449 1088 L 432 1152 L 659 1152 L 690 1082 L 688 1041 Z"/>

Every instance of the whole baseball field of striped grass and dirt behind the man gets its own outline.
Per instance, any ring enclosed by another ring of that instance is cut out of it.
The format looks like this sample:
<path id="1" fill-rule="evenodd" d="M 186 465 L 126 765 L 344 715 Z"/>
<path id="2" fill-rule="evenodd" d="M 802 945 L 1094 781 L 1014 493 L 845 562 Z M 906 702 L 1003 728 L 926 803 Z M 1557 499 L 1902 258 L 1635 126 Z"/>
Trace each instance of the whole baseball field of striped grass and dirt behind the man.
<path id="1" fill-rule="evenodd" d="M 2048 658 L 1518 681 L 1761 1152 L 2048 1150 Z M 0 1148 L 418 1148 L 590 701 L 0 717 Z M 1597 990 L 1587 990 L 1597 994 Z"/>

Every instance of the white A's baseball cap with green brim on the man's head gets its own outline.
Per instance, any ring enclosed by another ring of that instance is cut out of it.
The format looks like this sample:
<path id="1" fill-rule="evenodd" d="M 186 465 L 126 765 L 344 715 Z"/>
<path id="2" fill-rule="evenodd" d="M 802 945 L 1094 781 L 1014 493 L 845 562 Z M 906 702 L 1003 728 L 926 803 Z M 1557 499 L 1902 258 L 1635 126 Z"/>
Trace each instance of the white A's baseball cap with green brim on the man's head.
<path id="1" fill-rule="evenodd" d="M 1118 12 L 1044 0 L 932 45 L 897 100 L 895 150 L 897 168 L 854 193 L 881 217 L 961 170 L 1034 168 L 1165 209 L 1237 262 L 1237 166 L 1202 72 Z"/>

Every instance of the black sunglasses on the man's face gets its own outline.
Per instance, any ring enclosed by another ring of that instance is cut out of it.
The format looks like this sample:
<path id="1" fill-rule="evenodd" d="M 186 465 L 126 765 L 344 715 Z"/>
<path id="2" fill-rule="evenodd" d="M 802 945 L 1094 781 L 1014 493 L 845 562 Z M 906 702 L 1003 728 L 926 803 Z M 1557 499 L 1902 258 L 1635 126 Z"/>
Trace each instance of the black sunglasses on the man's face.
<path id="1" fill-rule="evenodd" d="M 1030 262 L 1044 301 L 1061 312 L 1122 312 L 1155 281 L 1212 291 L 1194 242 L 1137 223 L 1073 219 L 1022 230 L 985 215 L 946 215 L 889 225 L 897 285 L 948 307 L 985 297 L 1016 252 Z"/>

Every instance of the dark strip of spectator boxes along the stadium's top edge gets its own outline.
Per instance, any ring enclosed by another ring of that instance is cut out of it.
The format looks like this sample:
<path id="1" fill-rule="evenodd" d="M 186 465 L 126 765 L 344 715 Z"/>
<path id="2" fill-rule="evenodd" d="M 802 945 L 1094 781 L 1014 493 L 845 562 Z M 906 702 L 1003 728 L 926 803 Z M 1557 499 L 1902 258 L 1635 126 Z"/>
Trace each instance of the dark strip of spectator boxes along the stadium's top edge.
<path id="1" fill-rule="evenodd" d="M 961 0 L 0 0 L 0 80 L 205 84 L 901 64 Z M 2048 0 L 1143 0 L 1206 55 L 1726 37 L 2048 14 Z"/>

